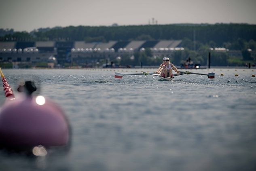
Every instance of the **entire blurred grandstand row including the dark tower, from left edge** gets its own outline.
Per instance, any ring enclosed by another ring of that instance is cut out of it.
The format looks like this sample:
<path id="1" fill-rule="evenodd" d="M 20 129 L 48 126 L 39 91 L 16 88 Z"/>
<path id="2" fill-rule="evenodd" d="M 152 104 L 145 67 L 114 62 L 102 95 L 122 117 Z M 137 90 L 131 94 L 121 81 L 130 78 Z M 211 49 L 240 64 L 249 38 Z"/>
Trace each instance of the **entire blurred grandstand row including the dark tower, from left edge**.
<path id="1" fill-rule="evenodd" d="M 109 42 L 0 42 L 0 61 L 34 65 L 48 62 L 55 57 L 64 65 L 88 65 L 100 60 L 112 61 L 117 57 L 133 56 L 135 52 L 151 49 L 154 57 L 171 57 L 174 51 L 182 51 L 181 40 L 109 41 Z"/>

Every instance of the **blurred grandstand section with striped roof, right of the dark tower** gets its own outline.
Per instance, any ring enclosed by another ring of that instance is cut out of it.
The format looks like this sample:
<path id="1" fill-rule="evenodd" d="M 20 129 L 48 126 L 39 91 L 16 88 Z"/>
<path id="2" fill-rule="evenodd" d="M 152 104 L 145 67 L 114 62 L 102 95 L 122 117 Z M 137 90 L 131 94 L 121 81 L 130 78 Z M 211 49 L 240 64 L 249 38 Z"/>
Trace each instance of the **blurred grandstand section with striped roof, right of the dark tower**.
<path id="1" fill-rule="evenodd" d="M 173 52 L 184 50 L 179 46 L 181 42 L 182 40 L 75 42 L 71 49 L 71 60 L 87 65 L 96 63 L 99 59 L 112 61 L 118 57 L 133 56 L 135 52 L 144 51 L 146 48 L 151 49 L 154 57 L 171 57 Z"/>

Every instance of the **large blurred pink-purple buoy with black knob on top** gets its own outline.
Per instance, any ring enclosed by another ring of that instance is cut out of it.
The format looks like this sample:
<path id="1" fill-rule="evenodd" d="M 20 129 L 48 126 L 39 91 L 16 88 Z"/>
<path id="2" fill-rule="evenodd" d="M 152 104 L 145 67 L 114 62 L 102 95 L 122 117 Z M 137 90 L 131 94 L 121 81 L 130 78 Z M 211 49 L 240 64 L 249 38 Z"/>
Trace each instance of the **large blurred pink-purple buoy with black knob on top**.
<path id="1" fill-rule="evenodd" d="M 70 130 L 63 111 L 43 96 L 33 97 L 33 82 L 25 82 L 18 90 L 26 92 L 24 97 L 7 99 L 0 110 L 0 146 L 32 149 L 67 145 Z"/>

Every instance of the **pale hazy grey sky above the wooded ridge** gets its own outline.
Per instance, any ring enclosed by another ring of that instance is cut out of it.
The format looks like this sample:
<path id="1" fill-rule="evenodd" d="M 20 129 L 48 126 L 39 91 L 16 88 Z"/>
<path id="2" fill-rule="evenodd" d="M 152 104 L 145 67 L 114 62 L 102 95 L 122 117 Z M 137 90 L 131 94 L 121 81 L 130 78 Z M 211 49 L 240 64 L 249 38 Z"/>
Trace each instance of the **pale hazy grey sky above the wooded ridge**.
<path id="1" fill-rule="evenodd" d="M 0 0 L 0 28 L 173 23 L 256 24 L 256 0 Z M 154 22 L 155 23 L 155 22 Z"/>

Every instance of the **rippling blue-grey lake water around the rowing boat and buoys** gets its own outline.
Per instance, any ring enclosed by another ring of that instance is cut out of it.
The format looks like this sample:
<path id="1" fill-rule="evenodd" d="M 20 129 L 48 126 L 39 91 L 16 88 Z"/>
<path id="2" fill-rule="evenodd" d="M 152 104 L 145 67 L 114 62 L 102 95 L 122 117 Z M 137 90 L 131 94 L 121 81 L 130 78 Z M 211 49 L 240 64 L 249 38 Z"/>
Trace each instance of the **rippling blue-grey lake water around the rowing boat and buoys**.
<path id="1" fill-rule="evenodd" d="M 0 151 L 0 170 L 256 170 L 252 69 L 192 70 L 216 76 L 183 75 L 170 82 L 157 76 L 116 79 L 113 70 L 2 71 L 13 88 L 19 80 L 36 81 L 40 94 L 65 110 L 72 145 L 46 157 Z M 118 72 L 136 71 L 142 70 Z"/>

